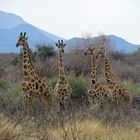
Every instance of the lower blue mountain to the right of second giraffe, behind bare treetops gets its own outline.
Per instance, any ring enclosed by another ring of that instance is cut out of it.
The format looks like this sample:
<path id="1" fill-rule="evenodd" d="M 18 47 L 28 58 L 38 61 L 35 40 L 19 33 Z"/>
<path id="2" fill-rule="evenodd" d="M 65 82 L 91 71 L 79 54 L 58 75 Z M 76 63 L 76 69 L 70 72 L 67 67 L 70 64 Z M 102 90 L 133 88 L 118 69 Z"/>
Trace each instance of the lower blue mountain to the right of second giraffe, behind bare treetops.
<path id="1" fill-rule="evenodd" d="M 119 51 L 119 52 L 124 52 L 124 53 L 129 53 L 137 50 L 140 48 L 140 45 L 135 45 L 132 44 L 126 40 L 124 40 L 121 37 L 115 36 L 115 35 L 105 35 L 105 37 L 109 40 L 111 43 L 113 50 Z M 94 41 L 98 37 L 93 37 L 90 39 L 90 42 L 94 43 Z M 86 45 L 86 40 L 83 38 L 72 38 L 70 40 L 66 40 L 67 43 L 67 51 L 71 49 L 83 49 L 84 46 Z"/>

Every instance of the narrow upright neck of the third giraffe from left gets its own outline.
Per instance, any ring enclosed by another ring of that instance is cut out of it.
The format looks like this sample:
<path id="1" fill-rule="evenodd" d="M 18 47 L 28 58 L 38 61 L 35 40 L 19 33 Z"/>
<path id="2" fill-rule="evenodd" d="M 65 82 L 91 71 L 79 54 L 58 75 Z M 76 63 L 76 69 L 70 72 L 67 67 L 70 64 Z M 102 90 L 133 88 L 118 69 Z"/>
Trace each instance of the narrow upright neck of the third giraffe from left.
<path id="1" fill-rule="evenodd" d="M 95 85 L 97 83 L 97 64 L 95 59 L 91 59 L 91 84 Z"/>

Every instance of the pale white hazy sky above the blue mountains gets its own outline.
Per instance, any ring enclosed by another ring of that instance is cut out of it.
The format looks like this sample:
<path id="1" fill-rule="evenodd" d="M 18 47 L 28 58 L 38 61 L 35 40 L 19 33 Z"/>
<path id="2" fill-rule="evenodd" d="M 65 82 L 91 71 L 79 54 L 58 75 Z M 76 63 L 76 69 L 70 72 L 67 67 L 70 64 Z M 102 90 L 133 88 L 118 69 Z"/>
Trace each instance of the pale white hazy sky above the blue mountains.
<path id="1" fill-rule="evenodd" d="M 0 10 L 66 39 L 102 32 L 140 44 L 140 0 L 0 0 Z"/>

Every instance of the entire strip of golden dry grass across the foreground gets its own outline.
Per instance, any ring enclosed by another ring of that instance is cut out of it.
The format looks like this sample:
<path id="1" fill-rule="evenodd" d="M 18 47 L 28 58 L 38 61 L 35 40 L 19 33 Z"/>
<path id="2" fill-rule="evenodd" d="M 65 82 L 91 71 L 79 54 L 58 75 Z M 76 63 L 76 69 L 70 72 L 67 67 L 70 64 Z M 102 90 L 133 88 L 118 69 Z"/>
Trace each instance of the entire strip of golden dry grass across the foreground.
<path id="1" fill-rule="evenodd" d="M 47 114 L 49 115 L 49 114 Z M 139 140 L 139 120 L 122 119 L 112 124 L 104 123 L 94 116 L 57 117 L 53 124 L 47 117 L 14 116 L 6 118 L 0 114 L 0 140 Z M 55 117 L 55 116 L 54 116 Z M 53 120 L 52 120 L 53 121 Z M 52 125 L 53 124 L 53 125 Z"/>

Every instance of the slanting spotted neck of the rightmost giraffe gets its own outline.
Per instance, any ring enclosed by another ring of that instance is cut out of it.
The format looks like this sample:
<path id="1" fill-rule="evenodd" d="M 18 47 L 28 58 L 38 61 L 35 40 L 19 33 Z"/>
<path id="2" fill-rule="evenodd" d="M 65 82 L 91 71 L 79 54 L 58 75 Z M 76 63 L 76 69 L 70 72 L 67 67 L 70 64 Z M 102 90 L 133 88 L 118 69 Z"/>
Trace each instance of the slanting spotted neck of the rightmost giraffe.
<path id="1" fill-rule="evenodd" d="M 105 57 L 104 67 L 105 67 L 105 78 L 107 83 L 109 85 L 114 85 L 114 82 L 116 81 L 116 76 L 111 72 L 109 59 L 107 58 L 107 56 Z"/>

